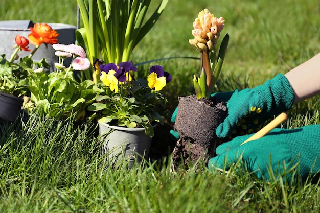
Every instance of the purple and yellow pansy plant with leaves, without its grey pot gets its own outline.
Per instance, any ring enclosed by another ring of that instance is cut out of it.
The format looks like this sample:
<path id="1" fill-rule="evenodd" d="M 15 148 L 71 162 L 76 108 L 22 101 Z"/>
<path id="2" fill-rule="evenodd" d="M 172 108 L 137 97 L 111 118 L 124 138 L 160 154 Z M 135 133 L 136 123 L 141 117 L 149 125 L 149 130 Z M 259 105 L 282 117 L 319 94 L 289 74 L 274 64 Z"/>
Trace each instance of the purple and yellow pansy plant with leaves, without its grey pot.
<path id="1" fill-rule="evenodd" d="M 152 137 L 153 125 L 164 123 L 157 111 L 167 101 L 161 90 L 172 76 L 162 66 L 155 65 L 150 67 L 147 80 L 135 78 L 138 68 L 132 61 L 116 65 L 96 60 L 94 68 L 100 74 L 103 93 L 88 110 L 97 112 L 100 122 L 128 128 L 144 127 L 146 135 Z"/>

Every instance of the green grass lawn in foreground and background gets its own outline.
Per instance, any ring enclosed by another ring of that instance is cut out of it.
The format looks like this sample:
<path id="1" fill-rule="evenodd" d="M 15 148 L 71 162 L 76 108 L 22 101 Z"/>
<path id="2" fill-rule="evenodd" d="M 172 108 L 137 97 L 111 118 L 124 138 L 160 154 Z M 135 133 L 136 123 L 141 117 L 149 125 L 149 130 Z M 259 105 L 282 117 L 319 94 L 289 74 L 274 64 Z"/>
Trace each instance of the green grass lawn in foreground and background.
<path id="1" fill-rule="evenodd" d="M 200 57 L 188 39 L 198 12 L 208 8 L 225 18 L 230 34 L 222 75 L 215 91 L 253 87 L 308 60 L 320 50 L 320 4 L 302 1 L 178 1 L 133 50 L 135 63 L 166 57 Z M 31 19 L 77 25 L 76 1 L 4 0 L 1 20 Z M 1 44 L 0 44 L 1 45 Z M 316 178 L 307 181 L 257 180 L 235 166 L 230 173 L 200 168 L 170 172 L 169 122 L 177 97 L 192 94 L 199 61 L 175 58 L 159 64 L 173 75 L 165 87 L 166 125 L 157 128 L 158 159 L 127 170 L 99 156 L 96 126 L 31 120 L 0 122 L 1 212 L 319 212 Z M 319 124 L 318 97 L 290 110 L 288 128 Z M 311 181 L 312 180 L 312 181 Z"/>

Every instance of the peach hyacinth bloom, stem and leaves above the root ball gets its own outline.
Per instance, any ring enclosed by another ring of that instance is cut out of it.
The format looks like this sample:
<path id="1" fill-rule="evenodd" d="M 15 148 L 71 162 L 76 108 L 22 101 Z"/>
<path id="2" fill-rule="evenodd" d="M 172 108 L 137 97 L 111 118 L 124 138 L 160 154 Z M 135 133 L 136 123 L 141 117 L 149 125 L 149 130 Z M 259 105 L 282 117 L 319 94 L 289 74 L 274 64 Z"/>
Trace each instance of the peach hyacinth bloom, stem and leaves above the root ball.
<path id="1" fill-rule="evenodd" d="M 193 28 L 194 39 L 189 39 L 189 43 L 195 45 L 201 54 L 201 73 L 199 77 L 193 77 L 194 89 L 197 99 L 209 99 L 221 72 L 229 35 L 224 36 L 216 56 L 216 44 L 224 28 L 224 18 L 217 18 L 204 9 L 193 22 Z"/>

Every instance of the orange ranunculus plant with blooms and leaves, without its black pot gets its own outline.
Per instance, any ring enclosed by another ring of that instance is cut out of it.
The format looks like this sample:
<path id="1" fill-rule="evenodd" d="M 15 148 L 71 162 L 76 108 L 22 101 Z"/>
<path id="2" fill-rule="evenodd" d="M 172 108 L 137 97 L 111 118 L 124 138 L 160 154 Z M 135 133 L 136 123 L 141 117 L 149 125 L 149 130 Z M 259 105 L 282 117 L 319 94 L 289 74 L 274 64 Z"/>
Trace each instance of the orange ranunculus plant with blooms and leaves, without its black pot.
<path id="1" fill-rule="evenodd" d="M 24 36 L 15 36 L 15 49 L 10 59 L 7 60 L 5 55 L 0 57 L 0 91 L 5 93 L 13 94 L 14 96 L 26 95 L 27 91 L 25 87 L 21 86 L 19 82 L 28 77 L 28 69 L 49 69 L 50 66 L 42 59 L 38 62 L 32 60 L 32 56 L 38 50 L 41 44 L 48 45 L 57 43 L 58 33 L 53 30 L 47 23 L 35 23 L 30 28 L 31 33 L 28 38 Z M 30 49 L 29 44 L 33 44 L 35 48 Z M 15 60 L 19 59 L 19 52 L 28 51 L 31 52 L 29 56 L 22 57 L 18 62 Z"/>

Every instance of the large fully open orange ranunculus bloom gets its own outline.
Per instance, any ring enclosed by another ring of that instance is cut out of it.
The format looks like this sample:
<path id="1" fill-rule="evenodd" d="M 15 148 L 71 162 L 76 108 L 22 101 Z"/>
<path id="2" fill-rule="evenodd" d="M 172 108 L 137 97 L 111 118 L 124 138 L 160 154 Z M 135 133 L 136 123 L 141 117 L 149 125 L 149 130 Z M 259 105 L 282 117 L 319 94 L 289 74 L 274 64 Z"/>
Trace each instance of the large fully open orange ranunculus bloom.
<path id="1" fill-rule="evenodd" d="M 57 31 L 52 29 L 47 23 L 42 25 L 42 23 L 35 23 L 33 28 L 30 28 L 31 33 L 28 35 L 30 43 L 33 45 L 45 45 L 58 43 L 57 37 L 59 34 Z"/>

